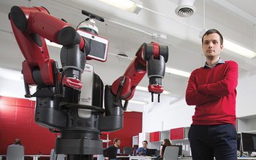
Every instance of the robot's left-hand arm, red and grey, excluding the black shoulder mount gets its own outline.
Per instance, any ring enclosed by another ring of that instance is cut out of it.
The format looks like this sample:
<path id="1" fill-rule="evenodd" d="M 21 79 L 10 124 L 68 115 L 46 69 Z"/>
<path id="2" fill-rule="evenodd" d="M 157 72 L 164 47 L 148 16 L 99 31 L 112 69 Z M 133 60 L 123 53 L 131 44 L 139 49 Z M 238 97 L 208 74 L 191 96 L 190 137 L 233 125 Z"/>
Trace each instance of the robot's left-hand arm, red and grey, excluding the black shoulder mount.
<path id="1" fill-rule="evenodd" d="M 25 61 L 23 76 L 26 97 L 31 97 L 28 85 L 59 87 L 59 71 L 50 59 L 45 39 L 61 44 L 61 65 L 64 86 L 80 89 L 80 74 L 85 66 L 86 41 L 62 20 L 49 15 L 44 7 L 12 7 L 10 22 Z M 78 61 L 80 60 L 80 61 Z M 55 71 L 55 72 L 54 72 Z"/>

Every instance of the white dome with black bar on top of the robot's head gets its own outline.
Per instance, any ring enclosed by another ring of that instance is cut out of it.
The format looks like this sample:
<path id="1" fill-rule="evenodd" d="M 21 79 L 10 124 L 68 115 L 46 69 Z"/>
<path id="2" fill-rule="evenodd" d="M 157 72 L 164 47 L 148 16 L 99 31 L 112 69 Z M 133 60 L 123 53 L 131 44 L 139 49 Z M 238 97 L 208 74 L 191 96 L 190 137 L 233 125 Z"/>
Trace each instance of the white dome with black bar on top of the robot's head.
<path id="1" fill-rule="evenodd" d="M 87 12 L 86 10 L 82 10 L 82 14 L 88 16 L 86 20 L 83 20 L 77 28 L 84 30 L 84 31 L 89 31 L 91 33 L 97 34 L 99 33 L 99 30 L 97 26 L 95 25 L 95 20 L 99 20 L 100 22 L 104 22 L 103 17 L 99 17 L 98 15 L 94 15 L 91 12 Z"/>

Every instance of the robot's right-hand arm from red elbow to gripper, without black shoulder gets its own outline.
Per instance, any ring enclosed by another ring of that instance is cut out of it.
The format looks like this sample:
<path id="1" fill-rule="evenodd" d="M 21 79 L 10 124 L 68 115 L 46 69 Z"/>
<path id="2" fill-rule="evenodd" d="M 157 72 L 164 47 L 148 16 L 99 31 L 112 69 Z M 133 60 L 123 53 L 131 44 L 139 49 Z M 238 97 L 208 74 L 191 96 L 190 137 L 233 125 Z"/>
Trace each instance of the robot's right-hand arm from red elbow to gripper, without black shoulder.
<path id="1" fill-rule="evenodd" d="M 168 59 L 167 46 L 160 46 L 157 43 L 142 44 L 136 53 L 136 57 L 125 71 L 124 76 L 113 82 L 111 90 L 116 95 L 115 103 L 121 100 L 130 100 L 135 88 L 148 73 L 148 91 L 160 95 L 163 92 L 162 78 L 165 75 L 165 63 Z M 158 97 L 159 101 L 159 97 Z"/>

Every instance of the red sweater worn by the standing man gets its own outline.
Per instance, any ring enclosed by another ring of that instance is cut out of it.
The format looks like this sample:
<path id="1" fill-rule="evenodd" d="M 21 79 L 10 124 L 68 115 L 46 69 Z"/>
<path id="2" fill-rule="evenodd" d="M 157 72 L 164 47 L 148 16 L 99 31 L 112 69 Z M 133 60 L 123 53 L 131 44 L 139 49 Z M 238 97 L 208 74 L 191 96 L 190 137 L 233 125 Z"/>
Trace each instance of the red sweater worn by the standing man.
<path id="1" fill-rule="evenodd" d="M 238 64 L 219 63 L 214 68 L 198 68 L 189 77 L 186 101 L 195 105 L 194 125 L 236 125 Z"/>

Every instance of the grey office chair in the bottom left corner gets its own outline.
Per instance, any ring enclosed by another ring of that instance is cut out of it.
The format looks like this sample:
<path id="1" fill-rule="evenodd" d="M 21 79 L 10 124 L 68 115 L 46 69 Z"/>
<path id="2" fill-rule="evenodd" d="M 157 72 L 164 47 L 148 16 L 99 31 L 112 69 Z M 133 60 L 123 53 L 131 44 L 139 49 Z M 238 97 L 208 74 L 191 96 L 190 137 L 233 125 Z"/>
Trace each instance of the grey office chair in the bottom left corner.
<path id="1" fill-rule="evenodd" d="M 24 160 L 24 146 L 9 145 L 7 147 L 7 160 Z"/>

